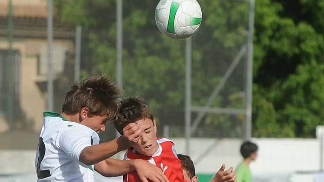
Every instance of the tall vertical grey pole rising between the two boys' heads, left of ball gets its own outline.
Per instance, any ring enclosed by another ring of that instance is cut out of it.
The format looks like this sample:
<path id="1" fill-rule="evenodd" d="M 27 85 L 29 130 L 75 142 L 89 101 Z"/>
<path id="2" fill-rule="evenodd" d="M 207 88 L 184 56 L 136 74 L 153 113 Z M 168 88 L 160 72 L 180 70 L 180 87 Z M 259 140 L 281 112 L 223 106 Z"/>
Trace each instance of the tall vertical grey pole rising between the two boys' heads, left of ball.
<path id="1" fill-rule="evenodd" d="M 122 67 L 122 56 L 123 56 L 123 1 L 116 0 L 116 82 L 122 88 L 123 87 L 123 67 Z M 116 131 L 116 137 L 120 134 Z"/>

